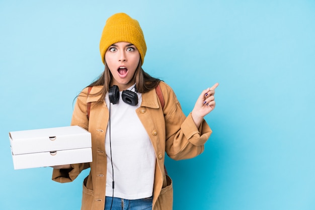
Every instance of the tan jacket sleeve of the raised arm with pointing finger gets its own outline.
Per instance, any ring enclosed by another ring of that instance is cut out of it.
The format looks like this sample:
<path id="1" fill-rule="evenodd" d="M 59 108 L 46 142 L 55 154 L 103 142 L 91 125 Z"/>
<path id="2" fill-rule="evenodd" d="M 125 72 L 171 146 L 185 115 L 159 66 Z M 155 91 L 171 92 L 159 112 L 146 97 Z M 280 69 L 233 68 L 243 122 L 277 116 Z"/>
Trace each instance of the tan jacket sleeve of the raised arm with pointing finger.
<path id="1" fill-rule="evenodd" d="M 172 159 L 182 160 L 201 154 L 212 131 L 205 120 L 196 127 L 191 113 L 185 116 L 170 86 L 160 84 L 165 98 L 166 152 Z M 163 88 L 164 87 L 164 88 Z"/>

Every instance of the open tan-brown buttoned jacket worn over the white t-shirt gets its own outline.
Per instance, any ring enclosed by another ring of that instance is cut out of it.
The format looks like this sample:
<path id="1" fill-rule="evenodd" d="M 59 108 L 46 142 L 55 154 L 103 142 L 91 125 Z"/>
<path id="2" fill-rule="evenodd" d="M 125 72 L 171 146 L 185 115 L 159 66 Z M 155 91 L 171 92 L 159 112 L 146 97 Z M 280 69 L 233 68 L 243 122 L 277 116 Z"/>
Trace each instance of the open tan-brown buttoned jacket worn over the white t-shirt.
<path id="1" fill-rule="evenodd" d="M 212 133 L 203 121 L 199 128 L 193 122 L 191 114 L 186 117 L 172 88 L 160 82 L 165 106 L 154 89 L 142 93 L 142 103 L 136 110 L 151 143 L 156 164 L 153 185 L 153 210 L 173 208 L 172 180 L 165 174 L 165 152 L 175 160 L 193 158 L 201 154 L 204 144 Z M 82 210 L 103 210 L 105 206 L 107 158 L 105 153 L 105 134 L 109 119 L 109 110 L 105 101 L 94 106 L 100 96 L 93 96 L 102 86 L 92 88 L 88 96 L 85 88 L 77 97 L 71 125 L 78 125 L 91 132 L 93 162 L 72 164 L 72 169 L 53 169 L 52 179 L 58 182 L 73 181 L 84 169 L 91 168 L 83 183 Z M 90 122 L 87 118 L 87 103 L 92 102 Z"/>

